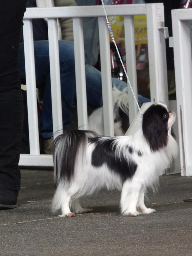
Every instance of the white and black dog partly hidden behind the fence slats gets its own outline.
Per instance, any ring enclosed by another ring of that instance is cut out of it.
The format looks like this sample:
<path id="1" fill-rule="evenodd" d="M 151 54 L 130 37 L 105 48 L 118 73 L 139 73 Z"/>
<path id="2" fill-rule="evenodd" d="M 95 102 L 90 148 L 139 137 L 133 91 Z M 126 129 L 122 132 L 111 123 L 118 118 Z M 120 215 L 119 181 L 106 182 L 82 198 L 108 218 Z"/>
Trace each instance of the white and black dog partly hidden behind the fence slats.
<path id="1" fill-rule="evenodd" d="M 112 89 L 113 120 L 115 136 L 124 136 L 129 128 L 129 102 L 127 88 L 119 91 L 115 86 Z M 88 129 L 104 135 L 103 107 L 95 109 L 88 118 Z"/>

